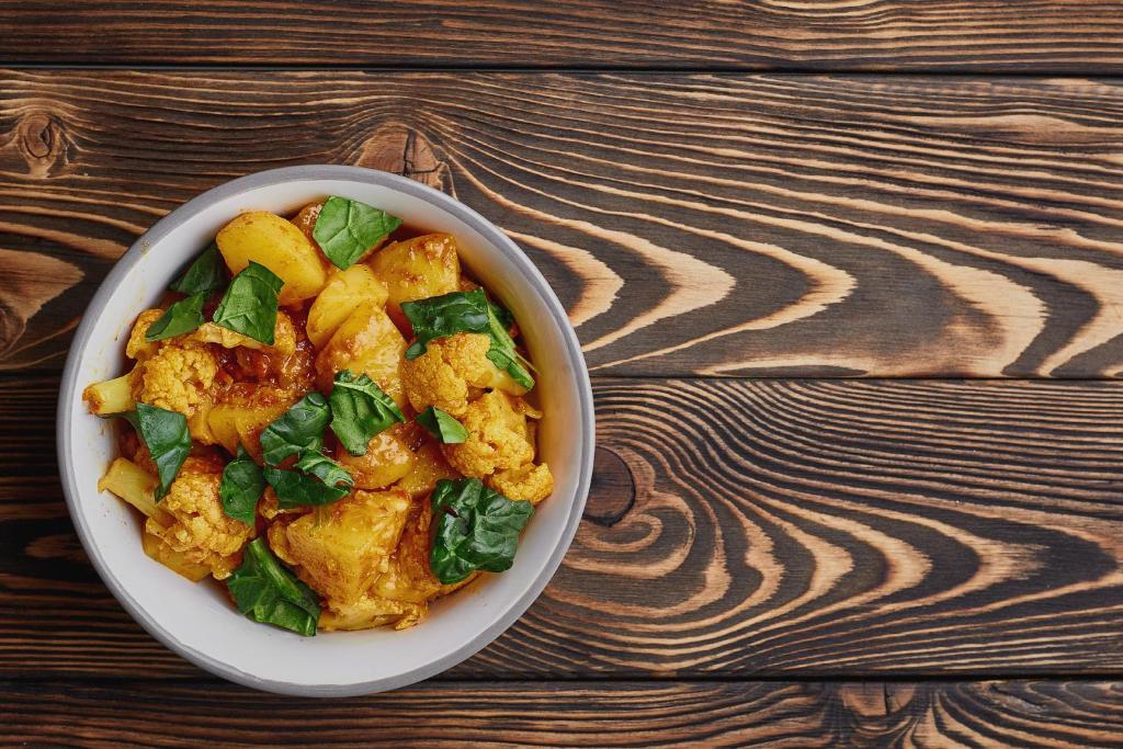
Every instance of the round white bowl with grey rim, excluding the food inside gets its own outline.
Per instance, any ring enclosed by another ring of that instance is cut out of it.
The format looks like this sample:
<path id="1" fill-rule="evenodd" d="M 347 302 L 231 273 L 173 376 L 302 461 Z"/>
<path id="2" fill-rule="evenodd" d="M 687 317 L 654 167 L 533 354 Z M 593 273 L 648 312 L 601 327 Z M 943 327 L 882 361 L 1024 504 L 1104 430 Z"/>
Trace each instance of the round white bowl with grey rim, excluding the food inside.
<path id="1" fill-rule="evenodd" d="M 465 264 L 514 312 L 538 367 L 546 412 L 538 439 L 556 488 L 538 505 L 509 572 L 439 601 L 417 627 L 303 638 L 249 621 L 219 586 L 192 585 L 145 556 L 135 511 L 98 492 L 98 478 L 117 448 L 110 424 L 86 412 L 82 389 L 121 373 L 124 341 L 137 314 L 161 298 L 223 223 L 241 211 L 286 213 L 331 194 L 456 235 Z M 60 392 L 57 439 L 66 501 L 86 554 L 117 600 L 153 637 L 246 686 L 344 696 L 393 689 L 458 664 L 514 623 L 541 593 L 576 532 L 588 492 L 593 396 L 577 337 L 557 296 L 491 222 L 444 193 L 393 174 L 294 166 L 203 193 L 157 222 L 121 257 L 74 337 Z"/>

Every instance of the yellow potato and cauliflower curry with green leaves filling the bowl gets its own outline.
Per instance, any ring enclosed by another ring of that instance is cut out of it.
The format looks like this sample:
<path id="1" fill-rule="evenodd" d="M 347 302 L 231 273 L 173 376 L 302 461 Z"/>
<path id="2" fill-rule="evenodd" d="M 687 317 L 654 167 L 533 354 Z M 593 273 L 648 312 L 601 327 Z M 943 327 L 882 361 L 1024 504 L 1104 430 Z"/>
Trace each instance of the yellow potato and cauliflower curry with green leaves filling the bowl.
<path id="1" fill-rule="evenodd" d="M 85 389 L 130 424 L 99 487 L 255 621 L 411 627 L 510 568 L 553 491 L 519 340 L 453 235 L 338 195 L 241 213 L 139 314 L 129 371 Z"/>

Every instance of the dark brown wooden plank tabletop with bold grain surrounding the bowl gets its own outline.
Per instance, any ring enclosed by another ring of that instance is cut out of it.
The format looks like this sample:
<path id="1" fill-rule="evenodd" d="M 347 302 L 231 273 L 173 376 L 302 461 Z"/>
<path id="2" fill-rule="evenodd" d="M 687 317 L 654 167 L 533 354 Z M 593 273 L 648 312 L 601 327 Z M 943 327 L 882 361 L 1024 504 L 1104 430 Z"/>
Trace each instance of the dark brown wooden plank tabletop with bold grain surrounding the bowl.
<path id="1" fill-rule="evenodd" d="M 1123 743 L 1123 2 L 3 0 L 0 65 L 4 742 Z M 327 702 L 128 618 L 53 426 L 138 235 L 323 162 L 532 256 L 600 445 L 518 624 Z"/>

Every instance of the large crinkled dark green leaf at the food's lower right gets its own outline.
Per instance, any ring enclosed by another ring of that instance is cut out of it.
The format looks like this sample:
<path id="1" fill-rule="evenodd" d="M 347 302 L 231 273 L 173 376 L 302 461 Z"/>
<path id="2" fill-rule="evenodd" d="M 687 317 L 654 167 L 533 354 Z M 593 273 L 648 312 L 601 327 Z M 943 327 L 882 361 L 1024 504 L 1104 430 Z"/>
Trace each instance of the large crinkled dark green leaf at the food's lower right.
<path id="1" fill-rule="evenodd" d="M 441 478 L 431 502 L 437 535 L 429 566 L 446 584 L 459 583 L 477 569 L 510 569 L 519 531 L 535 511 L 530 502 L 512 502 L 478 478 Z"/>

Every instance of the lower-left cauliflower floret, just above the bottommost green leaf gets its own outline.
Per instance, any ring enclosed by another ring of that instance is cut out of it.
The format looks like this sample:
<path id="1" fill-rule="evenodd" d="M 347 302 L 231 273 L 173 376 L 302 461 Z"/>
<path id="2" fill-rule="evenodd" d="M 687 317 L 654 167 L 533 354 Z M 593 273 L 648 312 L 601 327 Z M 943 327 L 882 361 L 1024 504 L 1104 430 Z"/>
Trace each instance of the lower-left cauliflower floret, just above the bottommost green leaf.
<path id="1" fill-rule="evenodd" d="M 206 565 L 216 579 L 230 576 L 241 564 L 241 547 L 254 529 L 222 510 L 218 487 L 222 462 L 217 456 L 189 457 L 145 530 L 181 551 L 189 561 Z"/>

